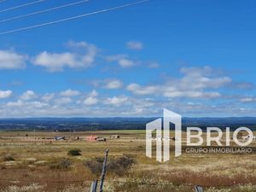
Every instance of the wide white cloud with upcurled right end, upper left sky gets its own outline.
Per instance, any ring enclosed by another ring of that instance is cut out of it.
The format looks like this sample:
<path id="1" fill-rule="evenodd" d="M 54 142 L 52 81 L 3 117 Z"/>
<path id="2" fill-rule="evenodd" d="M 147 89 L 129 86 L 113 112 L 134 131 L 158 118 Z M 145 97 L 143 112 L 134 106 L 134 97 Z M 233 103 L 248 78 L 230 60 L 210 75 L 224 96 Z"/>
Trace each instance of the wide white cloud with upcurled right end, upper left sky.
<path id="1" fill-rule="evenodd" d="M 32 60 L 34 65 L 46 67 L 49 72 L 62 71 L 65 67 L 86 68 L 90 67 L 96 59 L 97 49 L 93 44 L 86 42 L 70 42 L 70 47 L 80 48 L 79 51 L 64 53 L 49 53 L 44 51 Z M 81 51 L 83 50 L 83 51 Z"/>

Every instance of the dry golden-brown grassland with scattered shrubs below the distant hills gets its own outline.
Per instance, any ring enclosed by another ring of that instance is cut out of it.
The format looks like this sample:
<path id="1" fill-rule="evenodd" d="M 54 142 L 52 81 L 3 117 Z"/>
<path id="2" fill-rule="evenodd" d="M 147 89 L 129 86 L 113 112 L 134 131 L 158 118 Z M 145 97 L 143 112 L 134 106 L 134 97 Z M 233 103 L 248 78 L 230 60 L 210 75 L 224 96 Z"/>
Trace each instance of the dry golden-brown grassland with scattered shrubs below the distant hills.
<path id="1" fill-rule="evenodd" d="M 86 141 L 91 135 L 105 137 L 107 142 Z M 113 135 L 120 138 L 110 139 Z M 54 141 L 55 136 L 68 140 Z M 256 147 L 255 141 L 252 146 Z M 74 148 L 81 155 L 67 154 Z M 158 163 L 145 156 L 145 131 L 0 131 L 0 191 L 89 192 L 91 181 L 99 177 L 99 172 L 93 170 L 98 164 L 94 163 L 101 162 L 107 148 L 108 160 L 115 164 L 108 166 L 106 192 L 189 192 L 194 191 L 195 184 L 204 186 L 207 192 L 256 191 L 255 152 L 183 153 L 177 158 L 171 153 L 172 160 Z M 130 160 L 132 165 L 120 166 L 122 163 L 114 160 Z"/>

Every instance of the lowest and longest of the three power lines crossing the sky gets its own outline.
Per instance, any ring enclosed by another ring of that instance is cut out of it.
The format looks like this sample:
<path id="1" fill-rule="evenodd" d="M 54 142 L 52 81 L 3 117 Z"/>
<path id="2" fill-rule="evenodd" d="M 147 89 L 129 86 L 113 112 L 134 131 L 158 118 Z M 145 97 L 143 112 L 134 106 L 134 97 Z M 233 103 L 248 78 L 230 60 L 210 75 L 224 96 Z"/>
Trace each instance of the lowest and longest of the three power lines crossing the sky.
<path id="1" fill-rule="evenodd" d="M 117 10 L 117 9 L 124 9 L 126 7 L 131 7 L 131 6 L 135 6 L 137 4 L 147 3 L 149 1 L 150 0 L 143 0 L 143 1 L 136 2 L 136 3 L 127 3 L 127 4 L 124 4 L 124 5 L 120 5 L 120 6 L 109 8 L 109 9 L 102 9 L 102 10 L 94 11 L 94 12 L 91 12 L 89 14 L 77 15 L 77 16 L 68 17 L 68 18 L 61 19 L 61 20 L 54 20 L 54 21 L 50 21 L 50 22 L 47 22 L 47 23 L 42 23 L 42 24 L 38 24 L 38 25 L 34 25 L 34 26 L 21 27 L 21 28 L 14 29 L 14 30 L 9 30 L 9 31 L 6 31 L 6 32 L 0 32 L 0 35 L 9 34 L 9 33 L 12 33 L 12 32 L 21 32 L 21 31 L 25 31 L 25 30 L 29 30 L 29 29 L 33 29 L 33 28 L 38 28 L 40 26 L 49 26 L 49 25 L 64 22 L 64 21 L 67 21 L 67 20 L 76 20 L 76 19 L 86 17 L 86 16 L 90 16 L 90 15 L 97 15 L 97 14 L 102 14 L 102 13 L 110 12 L 110 11 Z"/>

